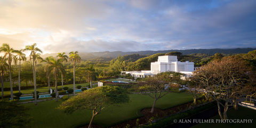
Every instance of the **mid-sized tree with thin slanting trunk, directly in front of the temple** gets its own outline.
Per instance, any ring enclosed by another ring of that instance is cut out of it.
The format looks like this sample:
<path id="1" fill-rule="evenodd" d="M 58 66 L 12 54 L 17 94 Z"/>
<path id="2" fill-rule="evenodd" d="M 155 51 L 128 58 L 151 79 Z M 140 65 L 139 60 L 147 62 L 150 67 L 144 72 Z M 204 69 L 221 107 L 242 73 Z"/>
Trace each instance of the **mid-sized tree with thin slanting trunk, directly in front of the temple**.
<path id="1" fill-rule="evenodd" d="M 178 84 L 172 84 L 172 77 L 167 74 L 157 74 L 153 77 L 148 77 L 145 82 L 140 82 L 142 86 L 139 87 L 140 94 L 149 95 L 150 98 L 154 99 L 153 106 L 150 113 L 154 113 L 156 101 L 167 93 L 177 89 Z"/>

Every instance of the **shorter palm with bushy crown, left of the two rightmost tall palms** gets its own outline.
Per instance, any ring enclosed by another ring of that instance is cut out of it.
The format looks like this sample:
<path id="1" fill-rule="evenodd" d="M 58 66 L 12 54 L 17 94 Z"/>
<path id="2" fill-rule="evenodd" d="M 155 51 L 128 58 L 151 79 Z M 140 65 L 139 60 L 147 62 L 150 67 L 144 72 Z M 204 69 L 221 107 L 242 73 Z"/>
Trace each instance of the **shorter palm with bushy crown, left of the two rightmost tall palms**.
<path id="1" fill-rule="evenodd" d="M 65 73 L 64 66 L 62 65 L 61 59 L 54 59 L 53 57 L 50 58 L 49 63 L 49 69 L 53 71 L 54 77 L 55 77 L 55 94 L 56 94 L 56 101 L 58 101 L 58 89 L 57 89 L 57 78 L 59 71 L 61 73 Z"/>

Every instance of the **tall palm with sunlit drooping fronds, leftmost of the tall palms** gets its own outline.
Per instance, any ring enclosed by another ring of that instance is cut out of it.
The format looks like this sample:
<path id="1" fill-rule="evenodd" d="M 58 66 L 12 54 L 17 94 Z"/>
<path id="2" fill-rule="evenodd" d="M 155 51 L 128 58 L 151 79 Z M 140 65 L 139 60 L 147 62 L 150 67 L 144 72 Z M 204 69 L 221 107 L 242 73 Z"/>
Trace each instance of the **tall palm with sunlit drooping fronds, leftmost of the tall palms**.
<path id="1" fill-rule="evenodd" d="M 17 63 L 17 58 L 13 53 L 19 53 L 18 50 L 13 50 L 9 44 L 3 44 L 0 48 L 0 52 L 4 52 L 3 58 L 8 58 L 8 65 L 9 65 L 9 75 L 10 75 L 10 88 L 11 88 L 11 100 L 13 100 L 13 90 L 12 90 L 12 60 L 14 63 Z"/>

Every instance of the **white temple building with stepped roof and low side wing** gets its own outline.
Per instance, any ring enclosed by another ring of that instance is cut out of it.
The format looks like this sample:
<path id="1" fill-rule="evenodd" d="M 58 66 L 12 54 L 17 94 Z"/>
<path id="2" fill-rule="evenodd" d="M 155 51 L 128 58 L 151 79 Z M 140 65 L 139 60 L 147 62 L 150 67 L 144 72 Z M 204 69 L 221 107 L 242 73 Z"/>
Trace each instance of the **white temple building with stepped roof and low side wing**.
<path id="1" fill-rule="evenodd" d="M 122 73 L 131 74 L 135 78 L 145 78 L 165 71 L 175 71 L 190 76 L 194 71 L 194 62 L 180 62 L 177 56 L 163 55 L 159 56 L 156 62 L 151 62 L 150 69 L 151 70 L 142 71 L 122 71 Z"/>

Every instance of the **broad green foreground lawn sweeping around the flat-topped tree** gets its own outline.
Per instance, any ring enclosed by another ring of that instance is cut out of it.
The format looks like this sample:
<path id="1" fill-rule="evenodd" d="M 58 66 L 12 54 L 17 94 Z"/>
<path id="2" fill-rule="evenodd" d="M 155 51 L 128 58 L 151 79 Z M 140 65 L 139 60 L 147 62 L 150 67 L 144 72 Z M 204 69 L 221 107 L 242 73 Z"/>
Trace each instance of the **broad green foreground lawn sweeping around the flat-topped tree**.
<path id="1" fill-rule="evenodd" d="M 94 124 L 101 126 L 110 126 L 126 119 L 137 118 L 137 111 L 142 108 L 148 108 L 153 105 L 154 99 L 148 95 L 130 94 L 131 102 L 121 106 L 111 106 L 102 110 L 101 114 L 94 119 Z M 156 103 L 157 108 L 166 109 L 192 101 L 193 98 L 187 93 L 169 93 Z M 60 110 L 55 109 L 62 101 L 55 102 L 44 101 L 25 104 L 29 108 L 28 113 L 34 121 L 30 122 L 31 127 L 77 127 L 89 124 L 92 116 L 91 110 L 75 111 L 67 115 Z"/>

